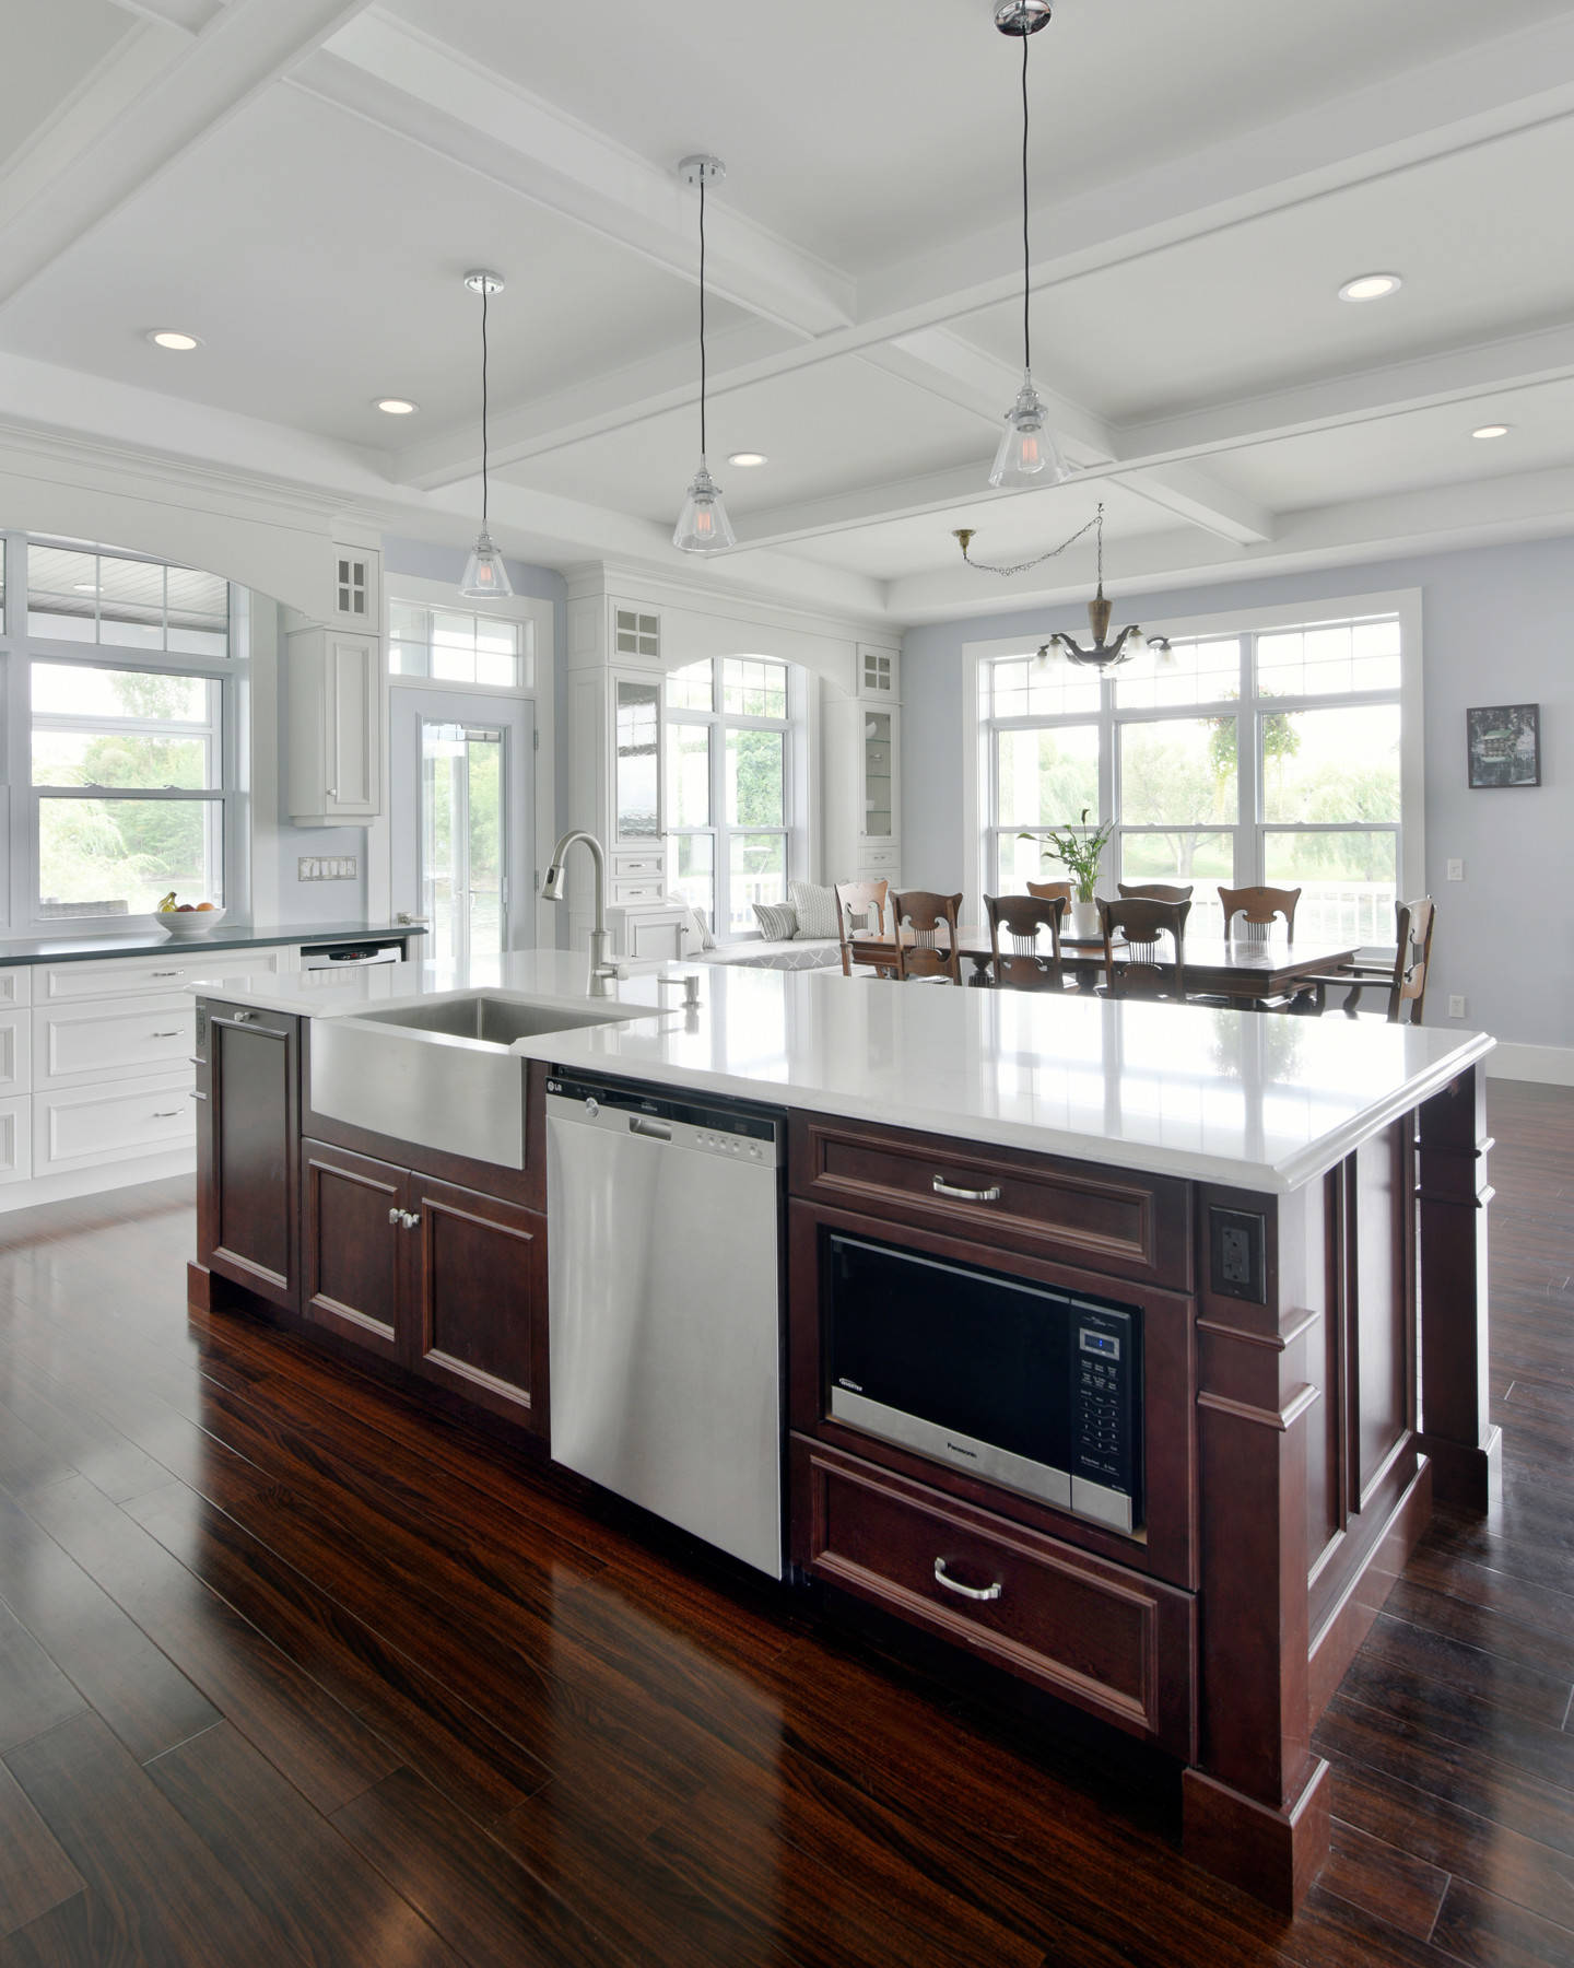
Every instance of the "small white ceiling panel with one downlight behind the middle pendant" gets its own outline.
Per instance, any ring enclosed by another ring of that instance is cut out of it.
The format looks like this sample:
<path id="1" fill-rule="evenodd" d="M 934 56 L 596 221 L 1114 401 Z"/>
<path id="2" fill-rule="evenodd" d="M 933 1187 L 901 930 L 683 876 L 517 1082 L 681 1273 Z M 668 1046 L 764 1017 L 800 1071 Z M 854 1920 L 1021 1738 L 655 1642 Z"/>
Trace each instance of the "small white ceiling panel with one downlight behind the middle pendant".
<path id="1" fill-rule="evenodd" d="M 856 356 L 712 400 L 708 439 L 710 472 L 734 518 L 970 459 L 982 484 L 996 449 L 982 417 Z M 769 462 L 740 468 L 728 464 L 730 451 L 763 451 Z M 659 520 L 677 516 L 696 457 L 698 411 L 683 409 L 527 459 L 502 476 Z"/>

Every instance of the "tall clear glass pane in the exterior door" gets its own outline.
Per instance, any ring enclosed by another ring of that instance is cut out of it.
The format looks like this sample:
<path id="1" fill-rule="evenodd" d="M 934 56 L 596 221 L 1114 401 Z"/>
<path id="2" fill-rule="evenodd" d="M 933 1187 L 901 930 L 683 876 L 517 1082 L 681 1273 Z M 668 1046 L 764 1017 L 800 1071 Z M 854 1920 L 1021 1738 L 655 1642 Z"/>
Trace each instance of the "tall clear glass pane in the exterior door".
<path id="1" fill-rule="evenodd" d="M 433 962 L 508 947 L 504 734 L 421 718 L 421 913 Z"/>

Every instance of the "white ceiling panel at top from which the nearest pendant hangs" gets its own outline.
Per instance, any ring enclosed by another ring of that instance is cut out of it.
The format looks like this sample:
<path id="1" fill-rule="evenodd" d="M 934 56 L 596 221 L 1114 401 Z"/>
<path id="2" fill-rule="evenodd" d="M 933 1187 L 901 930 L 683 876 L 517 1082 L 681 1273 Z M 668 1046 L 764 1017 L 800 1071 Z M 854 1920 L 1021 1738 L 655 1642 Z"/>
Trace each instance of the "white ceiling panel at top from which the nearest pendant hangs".
<path id="1" fill-rule="evenodd" d="M 992 0 L 392 0 L 392 14 L 848 272 L 960 238 L 1011 187 L 1017 49 Z M 1033 43 L 1049 195 L 1564 12 L 1562 0 L 1059 0 Z"/>

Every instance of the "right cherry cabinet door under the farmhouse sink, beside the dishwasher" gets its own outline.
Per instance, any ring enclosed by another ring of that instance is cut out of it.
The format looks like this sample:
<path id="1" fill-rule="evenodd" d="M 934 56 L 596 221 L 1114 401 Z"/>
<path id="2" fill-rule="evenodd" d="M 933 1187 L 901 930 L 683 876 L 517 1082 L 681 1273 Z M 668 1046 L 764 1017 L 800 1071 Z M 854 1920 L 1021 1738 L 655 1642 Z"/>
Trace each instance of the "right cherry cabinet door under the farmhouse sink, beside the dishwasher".
<path id="1" fill-rule="evenodd" d="M 419 1214 L 415 1366 L 545 1433 L 547 1220 L 470 1189 L 409 1179 Z"/>

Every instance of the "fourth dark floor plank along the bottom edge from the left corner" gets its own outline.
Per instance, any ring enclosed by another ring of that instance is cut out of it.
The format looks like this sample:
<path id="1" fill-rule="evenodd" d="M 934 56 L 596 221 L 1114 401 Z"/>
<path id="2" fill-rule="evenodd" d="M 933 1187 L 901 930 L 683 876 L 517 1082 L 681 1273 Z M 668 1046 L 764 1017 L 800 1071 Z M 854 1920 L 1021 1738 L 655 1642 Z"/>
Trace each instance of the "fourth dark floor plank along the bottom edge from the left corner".
<path id="1" fill-rule="evenodd" d="M 413 1771 L 384 1777 L 333 1822 L 466 1962 L 618 1968 L 630 1960 Z M 616 1879 L 604 1891 L 616 1891 Z"/>

